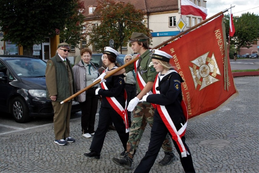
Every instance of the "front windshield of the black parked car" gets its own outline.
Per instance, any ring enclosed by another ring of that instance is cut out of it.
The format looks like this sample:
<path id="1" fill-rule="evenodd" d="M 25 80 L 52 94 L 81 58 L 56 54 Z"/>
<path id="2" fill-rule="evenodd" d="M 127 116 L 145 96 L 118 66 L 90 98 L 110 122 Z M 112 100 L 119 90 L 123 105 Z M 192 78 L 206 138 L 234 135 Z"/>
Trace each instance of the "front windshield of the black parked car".
<path id="1" fill-rule="evenodd" d="M 21 78 L 45 76 L 46 62 L 40 59 L 22 58 L 6 60 L 6 62 Z"/>

